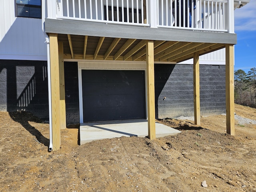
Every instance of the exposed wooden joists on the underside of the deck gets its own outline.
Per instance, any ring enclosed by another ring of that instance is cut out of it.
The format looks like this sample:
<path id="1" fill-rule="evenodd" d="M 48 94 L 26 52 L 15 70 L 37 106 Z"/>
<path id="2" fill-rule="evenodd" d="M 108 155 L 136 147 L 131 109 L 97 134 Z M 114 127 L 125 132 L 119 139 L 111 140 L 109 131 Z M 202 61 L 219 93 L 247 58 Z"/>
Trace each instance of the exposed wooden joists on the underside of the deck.
<path id="1" fill-rule="evenodd" d="M 64 59 L 145 61 L 146 40 L 58 34 L 64 45 Z M 225 44 L 154 41 L 154 60 L 182 62 L 224 48 Z"/>

